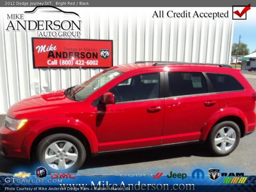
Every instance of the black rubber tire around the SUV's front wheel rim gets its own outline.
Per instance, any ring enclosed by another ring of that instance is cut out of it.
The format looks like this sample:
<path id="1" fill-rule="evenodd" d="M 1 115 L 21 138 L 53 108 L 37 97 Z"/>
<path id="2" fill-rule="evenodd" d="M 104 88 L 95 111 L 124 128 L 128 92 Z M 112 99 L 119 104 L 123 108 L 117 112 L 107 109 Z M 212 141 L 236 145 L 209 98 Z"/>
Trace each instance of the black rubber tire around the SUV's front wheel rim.
<path id="1" fill-rule="evenodd" d="M 52 144 L 53 142 L 56 141 L 68 141 L 70 143 L 72 143 L 76 148 L 77 148 L 77 152 L 78 152 L 78 158 L 76 160 L 76 163 L 65 170 L 56 170 L 51 168 L 44 159 L 44 154 L 46 149 L 48 148 L 48 146 L 50 144 Z M 76 137 L 72 136 L 72 135 L 68 135 L 68 134 L 64 134 L 64 133 L 58 133 L 58 134 L 53 134 L 53 135 L 49 135 L 47 137 L 45 137 L 43 140 L 41 140 L 37 146 L 37 150 L 36 150 L 36 158 L 38 159 L 39 163 L 41 165 L 43 165 L 47 170 L 51 171 L 51 172 L 72 172 L 72 171 L 77 171 L 83 164 L 86 158 L 86 149 L 84 147 L 84 145 L 82 144 L 82 142 L 80 140 L 78 140 Z"/>

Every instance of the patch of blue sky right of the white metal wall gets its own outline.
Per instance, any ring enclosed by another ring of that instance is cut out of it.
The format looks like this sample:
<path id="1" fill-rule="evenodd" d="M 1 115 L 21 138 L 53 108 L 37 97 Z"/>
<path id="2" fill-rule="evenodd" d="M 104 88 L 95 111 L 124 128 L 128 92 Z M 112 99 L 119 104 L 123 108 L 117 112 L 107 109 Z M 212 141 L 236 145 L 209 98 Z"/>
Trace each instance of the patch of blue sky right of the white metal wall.
<path id="1" fill-rule="evenodd" d="M 246 43 L 250 52 L 256 50 L 256 7 L 247 12 L 247 20 L 234 20 L 233 43 L 238 43 L 239 35 L 241 42 Z"/>

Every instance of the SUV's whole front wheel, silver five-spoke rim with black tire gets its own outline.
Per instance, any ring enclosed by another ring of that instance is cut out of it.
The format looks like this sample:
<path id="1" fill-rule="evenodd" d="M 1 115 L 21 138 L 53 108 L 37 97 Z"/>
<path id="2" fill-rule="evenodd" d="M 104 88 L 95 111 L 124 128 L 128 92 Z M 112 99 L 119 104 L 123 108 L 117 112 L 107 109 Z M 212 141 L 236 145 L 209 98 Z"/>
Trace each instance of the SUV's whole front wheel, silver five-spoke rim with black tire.
<path id="1" fill-rule="evenodd" d="M 84 164 L 86 150 L 76 137 L 59 133 L 41 140 L 36 156 L 41 164 L 52 171 L 77 171 Z"/>

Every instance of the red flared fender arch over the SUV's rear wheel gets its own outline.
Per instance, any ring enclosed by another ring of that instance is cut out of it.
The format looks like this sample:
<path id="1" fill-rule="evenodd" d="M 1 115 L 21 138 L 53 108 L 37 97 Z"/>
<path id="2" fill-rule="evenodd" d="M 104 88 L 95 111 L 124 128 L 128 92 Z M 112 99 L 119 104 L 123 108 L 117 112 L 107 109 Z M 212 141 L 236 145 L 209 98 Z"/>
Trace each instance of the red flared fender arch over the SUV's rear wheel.
<path id="1" fill-rule="evenodd" d="M 244 122 L 244 131 L 245 133 L 248 131 L 248 122 L 246 116 L 243 111 L 238 108 L 221 108 L 220 110 L 216 111 L 207 122 L 205 122 L 204 127 L 202 129 L 202 134 L 200 136 L 200 140 L 206 140 L 208 137 L 209 132 L 211 131 L 213 125 L 221 118 L 226 116 L 237 116 L 241 118 Z"/>

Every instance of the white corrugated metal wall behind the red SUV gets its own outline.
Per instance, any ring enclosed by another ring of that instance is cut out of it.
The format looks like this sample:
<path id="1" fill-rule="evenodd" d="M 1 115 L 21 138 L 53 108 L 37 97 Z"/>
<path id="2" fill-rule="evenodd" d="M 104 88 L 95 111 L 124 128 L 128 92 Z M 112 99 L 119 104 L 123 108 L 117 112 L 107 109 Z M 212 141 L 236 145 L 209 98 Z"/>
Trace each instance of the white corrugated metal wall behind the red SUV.
<path id="1" fill-rule="evenodd" d="M 79 12 L 84 39 L 112 39 L 114 65 L 141 60 L 228 64 L 231 19 L 153 19 L 134 12 Z M 47 18 L 51 20 L 50 16 Z M 6 31 L 0 21 L 0 114 L 31 95 L 80 84 L 103 69 L 33 69 L 35 31 Z"/>

